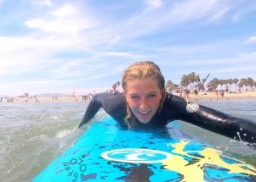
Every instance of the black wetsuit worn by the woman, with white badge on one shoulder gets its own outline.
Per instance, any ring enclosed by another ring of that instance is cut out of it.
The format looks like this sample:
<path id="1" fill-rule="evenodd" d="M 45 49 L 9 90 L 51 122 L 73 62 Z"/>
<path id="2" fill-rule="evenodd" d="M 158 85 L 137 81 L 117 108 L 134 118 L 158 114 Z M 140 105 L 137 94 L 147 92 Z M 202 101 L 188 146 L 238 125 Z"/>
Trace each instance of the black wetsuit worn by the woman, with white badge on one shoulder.
<path id="1" fill-rule="evenodd" d="M 199 106 L 199 108 L 198 108 Z M 132 114 L 127 116 L 127 104 L 122 93 L 96 94 L 83 116 L 81 124 L 87 123 L 94 115 L 103 108 L 122 127 L 133 126 L 136 129 L 164 128 L 173 120 L 182 120 L 195 124 L 206 130 L 211 130 L 220 135 L 228 136 L 237 141 L 256 143 L 256 122 L 249 119 L 234 118 L 228 114 L 221 113 L 213 108 L 207 108 L 196 103 L 186 102 L 182 97 L 167 93 L 162 108 L 156 112 L 150 122 L 142 124 Z"/>

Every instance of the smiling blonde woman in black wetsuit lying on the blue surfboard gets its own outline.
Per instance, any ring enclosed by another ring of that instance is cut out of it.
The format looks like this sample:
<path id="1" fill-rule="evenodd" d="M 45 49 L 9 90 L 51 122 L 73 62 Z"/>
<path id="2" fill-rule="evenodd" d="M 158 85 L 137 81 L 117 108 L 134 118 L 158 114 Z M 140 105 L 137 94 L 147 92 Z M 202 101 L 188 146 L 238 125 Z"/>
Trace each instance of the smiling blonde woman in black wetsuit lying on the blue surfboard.
<path id="1" fill-rule="evenodd" d="M 117 123 L 132 130 L 164 128 L 182 120 L 237 141 L 256 143 L 256 122 L 235 118 L 165 91 L 165 80 L 156 63 L 130 65 L 122 75 L 123 93 L 99 93 L 88 104 L 82 124 L 103 108 Z"/>

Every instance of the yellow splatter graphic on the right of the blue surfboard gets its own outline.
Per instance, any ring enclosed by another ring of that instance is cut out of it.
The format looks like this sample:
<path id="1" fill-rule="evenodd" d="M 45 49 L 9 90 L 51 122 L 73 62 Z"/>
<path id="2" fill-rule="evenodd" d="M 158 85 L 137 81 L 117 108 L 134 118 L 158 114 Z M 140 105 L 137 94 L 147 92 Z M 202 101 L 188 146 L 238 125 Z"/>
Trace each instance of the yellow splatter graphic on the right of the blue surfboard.
<path id="1" fill-rule="evenodd" d="M 206 164 L 213 166 L 218 165 L 218 168 L 226 168 L 229 170 L 230 174 L 247 174 L 256 176 L 256 170 L 253 166 L 243 162 L 226 163 L 221 157 L 222 152 L 213 148 L 205 147 L 202 151 L 198 151 L 202 157 L 191 155 L 191 151 L 184 150 L 185 146 L 188 145 L 189 142 L 190 141 L 180 141 L 179 143 L 170 144 L 174 147 L 172 152 L 177 155 L 172 155 L 170 159 L 165 160 L 162 163 L 164 168 L 183 174 L 183 181 L 204 181 L 204 170 L 202 170 L 202 168 Z M 196 158 L 196 163 L 189 163 L 184 157 Z"/>

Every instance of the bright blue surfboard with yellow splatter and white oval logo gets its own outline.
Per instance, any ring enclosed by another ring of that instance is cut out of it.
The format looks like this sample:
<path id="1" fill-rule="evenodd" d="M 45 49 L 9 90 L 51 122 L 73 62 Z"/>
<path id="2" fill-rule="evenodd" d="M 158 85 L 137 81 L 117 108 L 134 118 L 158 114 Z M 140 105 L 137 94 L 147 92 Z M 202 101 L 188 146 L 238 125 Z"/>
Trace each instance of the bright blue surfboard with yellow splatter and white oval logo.
<path id="1" fill-rule="evenodd" d="M 256 169 L 192 139 L 175 122 L 167 130 L 133 131 L 107 117 L 33 179 L 42 181 L 256 181 Z"/>

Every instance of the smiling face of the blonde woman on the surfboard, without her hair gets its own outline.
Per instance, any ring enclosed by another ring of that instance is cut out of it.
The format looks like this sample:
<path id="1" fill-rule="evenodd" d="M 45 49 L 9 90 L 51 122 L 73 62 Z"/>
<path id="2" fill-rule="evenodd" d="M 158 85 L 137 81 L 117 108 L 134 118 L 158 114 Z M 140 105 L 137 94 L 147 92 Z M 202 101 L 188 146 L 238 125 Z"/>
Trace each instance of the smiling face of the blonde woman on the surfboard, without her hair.
<path id="1" fill-rule="evenodd" d="M 141 123 L 148 123 L 157 109 L 162 98 L 162 90 L 156 79 L 128 80 L 124 91 L 128 106 Z"/>

